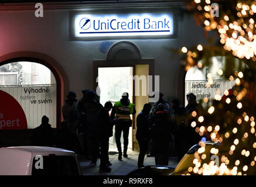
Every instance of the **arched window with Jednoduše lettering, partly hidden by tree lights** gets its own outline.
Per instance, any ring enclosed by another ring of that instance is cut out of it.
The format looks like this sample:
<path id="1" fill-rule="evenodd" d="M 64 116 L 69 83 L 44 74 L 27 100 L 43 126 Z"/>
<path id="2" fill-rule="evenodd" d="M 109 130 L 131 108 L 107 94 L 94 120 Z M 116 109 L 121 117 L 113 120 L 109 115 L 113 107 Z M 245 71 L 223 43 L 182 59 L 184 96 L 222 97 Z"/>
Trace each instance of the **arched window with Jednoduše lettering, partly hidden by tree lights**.
<path id="1" fill-rule="evenodd" d="M 226 90 L 235 85 L 235 81 L 230 81 L 223 76 L 223 70 L 227 68 L 227 58 L 230 57 L 211 57 L 209 58 L 211 64 L 209 67 L 199 69 L 194 66 L 186 72 L 185 106 L 187 105 L 186 94 L 188 92 L 194 93 L 197 103 L 202 102 L 202 105 L 206 107 L 210 106 L 214 99 L 221 98 Z M 245 68 L 245 63 L 238 58 L 232 58 L 231 60 L 234 71 Z M 207 84 L 209 78 L 213 80 L 213 84 Z"/>

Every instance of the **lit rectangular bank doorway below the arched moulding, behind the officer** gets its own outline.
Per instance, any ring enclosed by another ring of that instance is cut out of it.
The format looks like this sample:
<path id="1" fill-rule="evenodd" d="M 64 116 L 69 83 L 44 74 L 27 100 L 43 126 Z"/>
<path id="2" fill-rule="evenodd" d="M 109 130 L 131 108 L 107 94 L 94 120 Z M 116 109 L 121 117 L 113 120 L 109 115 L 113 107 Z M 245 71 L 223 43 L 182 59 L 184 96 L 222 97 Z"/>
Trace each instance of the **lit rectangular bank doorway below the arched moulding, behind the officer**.
<path id="1" fill-rule="evenodd" d="M 118 65 L 122 63 L 121 65 Z M 132 117 L 129 130 L 128 148 L 139 150 L 136 141 L 136 116 L 145 103 L 149 102 L 148 76 L 152 72 L 153 60 L 138 61 L 94 61 L 94 90 L 100 97 L 100 103 L 120 101 L 122 93 L 129 93 L 129 100 L 135 104 L 136 114 Z M 123 143 L 121 137 L 121 143 Z M 110 151 L 117 151 L 115 137 L 110 138 Z"/>

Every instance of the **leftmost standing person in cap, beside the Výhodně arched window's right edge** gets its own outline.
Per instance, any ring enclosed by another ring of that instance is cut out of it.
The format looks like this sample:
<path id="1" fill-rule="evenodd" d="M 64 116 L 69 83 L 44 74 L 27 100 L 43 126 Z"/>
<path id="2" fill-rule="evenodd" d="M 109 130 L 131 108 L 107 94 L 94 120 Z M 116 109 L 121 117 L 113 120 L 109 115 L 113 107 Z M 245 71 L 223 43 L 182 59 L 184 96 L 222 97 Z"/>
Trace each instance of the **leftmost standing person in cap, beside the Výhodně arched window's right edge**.
<path id="1" fill-rule="evenodd" d="M 70 133 L 76 134 L 79 115 L 77 111 L 77 99 L 75 92 L 70 91 L 67 94 L 66 102 L 62 107 L 62 115 L 64 121 L 67 123 L 67 128 L 69 129 Z"/>

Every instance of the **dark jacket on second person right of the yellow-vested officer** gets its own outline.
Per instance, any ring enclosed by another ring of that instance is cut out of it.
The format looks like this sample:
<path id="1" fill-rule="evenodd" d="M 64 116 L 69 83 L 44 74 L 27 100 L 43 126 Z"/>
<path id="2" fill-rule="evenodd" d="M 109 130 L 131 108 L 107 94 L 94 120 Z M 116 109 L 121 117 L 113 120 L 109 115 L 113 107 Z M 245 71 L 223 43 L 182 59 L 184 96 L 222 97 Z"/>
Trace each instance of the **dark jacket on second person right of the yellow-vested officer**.
<path id="1" fill-rule="evenodd" d="M 152 126 L 152 140 L 155 153 L 168 153 L 169 141 L 172 140 L 168 113 L 156 113 L 156 121 Z"/>

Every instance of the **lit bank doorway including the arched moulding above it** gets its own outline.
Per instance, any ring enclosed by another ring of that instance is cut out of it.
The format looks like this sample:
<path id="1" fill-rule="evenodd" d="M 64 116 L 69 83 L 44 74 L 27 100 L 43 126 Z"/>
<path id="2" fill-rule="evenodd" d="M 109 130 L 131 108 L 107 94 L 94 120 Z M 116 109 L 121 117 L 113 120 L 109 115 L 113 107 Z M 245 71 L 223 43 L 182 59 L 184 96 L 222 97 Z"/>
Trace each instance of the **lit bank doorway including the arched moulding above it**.
<path id="1" fill-rule="evenodd" d="M 94 91 L 97 91 L 97 88 L 101 87 L 101 93 L 110 93 L 110 96 L 101 96 L 99 100 L 103 102 L 111 101 L 114 103 L 121 99 L 122 92 L 128 92 L 130 101 L 135 103 L 136 114 L 133 116 L 133 124 L 129 131 L 128 144 L 128 148 L 132 148 L 133 150 L 139 149 L 135 137 L 135 119 L 138 113 L 141 112 L 143 105 L 149 102 L 148 93 L 146 93 L 146 95 L 135 95 L 135 90 L 142 91 L 142 84 L 140 84 L 140 81 L 138 81 L 137 84 L 136 81 L 133 81 L 133 78 L 135 75 L 138 75 L 138 77 L 145 75 L 146 83 L 148 83 L 148 75 L 154 75 L 154 68 L 154 59 L 143 59 L 138 47 L 130 41 L 118 41 L 117 43 L 112 44 L 107 51 L 105 60 L 93 61 Z M 154 81 L 152 82 L 152 87 L 154 89 Z M 117 95 L 113 95 L 112 92 L 117 93 Z M 104 103 L 101 104 L 104 105 Z M 110 139 L 110 144 L 112 144 L 112 148 L 115 149 L 114 137 Z"/>

